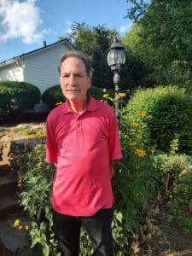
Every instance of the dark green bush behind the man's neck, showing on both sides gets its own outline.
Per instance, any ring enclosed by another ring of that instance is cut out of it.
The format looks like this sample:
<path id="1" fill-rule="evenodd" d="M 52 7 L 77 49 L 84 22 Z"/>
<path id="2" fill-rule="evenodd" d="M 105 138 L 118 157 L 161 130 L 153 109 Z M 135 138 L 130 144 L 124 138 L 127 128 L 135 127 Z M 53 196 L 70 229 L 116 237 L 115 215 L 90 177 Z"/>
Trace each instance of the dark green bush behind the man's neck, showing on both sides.
<path id="1" fill-rule="evenodd" d="M 110 96 L 113 96 L 113 92 L 109 92 L 109 91 L 107 92 Z M 102 88 L 98 88 L 94 86 L 90 87 L 88 93 L 90 94 L 90 96 L 93 96 L 98 100 L 101 100 L 103 96 Z M 44 103 L 46 103 L 49 106 L 49 108 L 55 108 L 57 103 L 64 102 L 65 97 L 62 94 L 61 86 L 55 85 L 45 90 L 42 96 L 42 100 L 44 101 Z"/>

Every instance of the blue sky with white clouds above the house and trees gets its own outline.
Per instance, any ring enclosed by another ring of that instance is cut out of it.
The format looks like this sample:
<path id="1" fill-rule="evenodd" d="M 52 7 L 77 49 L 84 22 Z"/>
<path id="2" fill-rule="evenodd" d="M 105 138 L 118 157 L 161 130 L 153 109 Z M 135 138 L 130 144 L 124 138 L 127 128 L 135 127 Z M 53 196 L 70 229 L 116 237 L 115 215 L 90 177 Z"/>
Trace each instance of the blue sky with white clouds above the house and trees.
<path id="1" fill-rule="evenodd" d="M 126 0 L 0 0 L 0 62 L 53 44 L 67 36 L 71 24 L 115 28 L 121 35 L 131 29 L 125 19 Z"/>

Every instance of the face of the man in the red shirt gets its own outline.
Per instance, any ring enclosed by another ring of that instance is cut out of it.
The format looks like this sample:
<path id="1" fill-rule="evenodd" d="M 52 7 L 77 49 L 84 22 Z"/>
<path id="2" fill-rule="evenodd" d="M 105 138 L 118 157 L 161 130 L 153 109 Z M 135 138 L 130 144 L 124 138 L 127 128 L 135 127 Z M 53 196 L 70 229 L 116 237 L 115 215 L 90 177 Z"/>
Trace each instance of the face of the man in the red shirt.
<path id="1" fill-rule="evenodd" d="M 91 80 L 85 71 L 84 61 L 76 57 L 69 57 L 62 62 L 60 84 L 62 93 L 67 100 L 84 102 L 90 83 Z"/>

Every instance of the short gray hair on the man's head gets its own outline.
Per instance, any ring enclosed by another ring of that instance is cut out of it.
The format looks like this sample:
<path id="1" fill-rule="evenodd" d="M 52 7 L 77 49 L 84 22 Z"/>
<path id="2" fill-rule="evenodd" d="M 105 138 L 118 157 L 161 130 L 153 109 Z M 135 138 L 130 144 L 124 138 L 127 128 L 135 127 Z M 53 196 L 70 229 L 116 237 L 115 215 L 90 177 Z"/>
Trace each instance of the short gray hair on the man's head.
<path id="1" fill-rule="evenodd" d="M 65 61 L 69 57 L 75 57 L 80 59 L 81 61 L 84 61 L 85 71 L 88 77 L 92 77 L 93 68 L 91 66 L 91 58 L 89 55 L 86 55 L 80 50 L 69 50 L 66 54 L 61 55 L 60 64 L 58 66 L 58 71 L 61 73 L 61 65 L 63 61 Z"/>

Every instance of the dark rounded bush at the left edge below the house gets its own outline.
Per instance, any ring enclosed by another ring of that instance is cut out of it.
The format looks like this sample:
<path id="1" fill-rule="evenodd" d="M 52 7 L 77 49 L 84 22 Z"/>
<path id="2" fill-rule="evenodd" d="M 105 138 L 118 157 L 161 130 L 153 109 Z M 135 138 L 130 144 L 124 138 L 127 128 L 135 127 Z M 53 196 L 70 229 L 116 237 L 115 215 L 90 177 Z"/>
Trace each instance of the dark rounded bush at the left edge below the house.
<path id="1" fill-rule="evenodd" d="M 0 82 L 0 117 L 33 108 L 41 99 L 38 87 L 25 82 Z"/>

